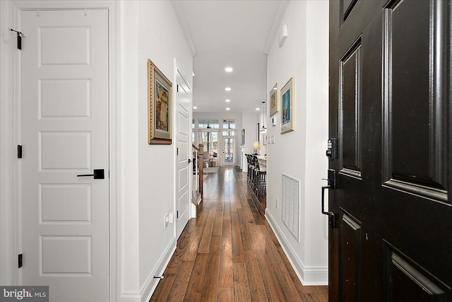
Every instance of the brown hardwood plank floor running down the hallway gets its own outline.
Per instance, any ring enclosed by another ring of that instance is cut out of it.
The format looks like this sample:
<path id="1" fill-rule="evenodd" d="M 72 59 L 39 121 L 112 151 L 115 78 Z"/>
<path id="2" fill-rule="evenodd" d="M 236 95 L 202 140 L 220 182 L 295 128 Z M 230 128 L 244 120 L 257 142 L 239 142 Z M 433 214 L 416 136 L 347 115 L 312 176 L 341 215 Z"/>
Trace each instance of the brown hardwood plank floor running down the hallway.
<path id="1" fill-rule="evenodd" d="M 328 286 L 302 286 L 246 174 L 209 174 L 202 207 L 150 301 L 328 301 Z"/>

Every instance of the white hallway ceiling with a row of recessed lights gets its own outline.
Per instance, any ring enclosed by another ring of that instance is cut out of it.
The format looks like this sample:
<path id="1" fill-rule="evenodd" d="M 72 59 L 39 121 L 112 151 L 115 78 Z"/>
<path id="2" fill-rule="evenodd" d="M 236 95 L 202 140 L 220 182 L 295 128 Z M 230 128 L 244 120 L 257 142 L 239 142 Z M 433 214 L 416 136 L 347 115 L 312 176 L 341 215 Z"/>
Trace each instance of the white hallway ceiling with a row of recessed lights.
<path id="1" fill-rule="evenodd" d="M 265 52 L 278 31 L 285 2 L 172 2 L 194 54 L 194 112 L 227 112 L 226 108 L 229 112 L 256 112 L 263 107 L 267 95 Z M 228 66 L 234 71 L 227 73 Z M 225 91 L 226 87 L 231 91 Z"/>

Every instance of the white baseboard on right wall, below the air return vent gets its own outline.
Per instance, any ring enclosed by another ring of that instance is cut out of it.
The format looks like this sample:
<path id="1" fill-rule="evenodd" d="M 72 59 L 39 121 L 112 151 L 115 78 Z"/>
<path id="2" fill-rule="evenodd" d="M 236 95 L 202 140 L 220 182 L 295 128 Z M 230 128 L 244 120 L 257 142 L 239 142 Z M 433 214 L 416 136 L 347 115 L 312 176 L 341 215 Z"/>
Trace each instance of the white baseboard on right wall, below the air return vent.
<path id="1" fill-rule="evenodd" d="M 281 248 L 283 248 L 295 273 L 297 273 L 299 281 L 306 286 L 328 285 L 328 267 L 305 267 L 267 209 L 266 219 L 275 233 L 276 238 L 278 238 Z"/>

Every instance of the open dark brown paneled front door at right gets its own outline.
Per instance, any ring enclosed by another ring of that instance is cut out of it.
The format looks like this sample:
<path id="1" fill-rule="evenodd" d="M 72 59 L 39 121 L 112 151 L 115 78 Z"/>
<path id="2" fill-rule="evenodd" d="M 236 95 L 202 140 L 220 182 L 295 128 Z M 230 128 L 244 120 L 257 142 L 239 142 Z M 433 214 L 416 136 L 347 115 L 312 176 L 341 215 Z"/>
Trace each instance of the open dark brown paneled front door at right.
<path id="1" fill-rule="evenodd" d="M 451 1 L 330 1 L 330 301 L 452 301 Z"/>

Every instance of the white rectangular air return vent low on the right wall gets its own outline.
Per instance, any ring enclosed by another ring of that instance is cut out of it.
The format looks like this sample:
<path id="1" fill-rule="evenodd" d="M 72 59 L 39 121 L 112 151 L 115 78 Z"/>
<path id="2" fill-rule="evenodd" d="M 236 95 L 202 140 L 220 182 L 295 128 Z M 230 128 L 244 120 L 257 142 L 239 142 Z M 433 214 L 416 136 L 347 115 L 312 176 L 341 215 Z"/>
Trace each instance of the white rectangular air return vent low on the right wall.
<path id="1" fill-rule="evenodd" d="M 299 180 L 283 174 L 283 222 L 299 240 Z"/>

